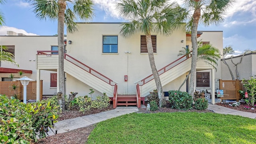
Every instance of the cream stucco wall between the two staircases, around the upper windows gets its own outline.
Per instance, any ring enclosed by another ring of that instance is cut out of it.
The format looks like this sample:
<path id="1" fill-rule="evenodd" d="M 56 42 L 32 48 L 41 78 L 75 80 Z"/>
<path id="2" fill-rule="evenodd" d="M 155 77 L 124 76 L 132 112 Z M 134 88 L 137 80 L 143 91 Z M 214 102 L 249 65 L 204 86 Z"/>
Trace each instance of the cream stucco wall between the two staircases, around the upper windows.
<path id="1" fill-rule="evenodd" d="M 140 53 L 141 34 L 122 37 L 119 33 L 120 23 L 80 23 L 78 26 L 78 32 L 67 35 L 67 41 L 72 41 L 66 47 L 67 54 L 118 82 L 119 94 L 136 94 L 134 83 L 152 74 L 148 54 Z M 118 35 L 118 54 L 102 53 L 103 35 Z M 152 35 L 157 35 L 157 54 L 154 54 L 157 69 L 176 60 L 178 51 L 186 47 L 186 43 L 181 43 L 181 40 L 186 39 L 182 29 L 169 37 L 156 33 Z M 130 51 L 130 54 L 125 51 Z M 124 82 L 124 75 L 128 75 L 128 82 Z M 67 82 L 67 89 L 72 91 L 75 88 L 73 85 Z M 88 92 L 81 93 L 86 94 Z"/>

